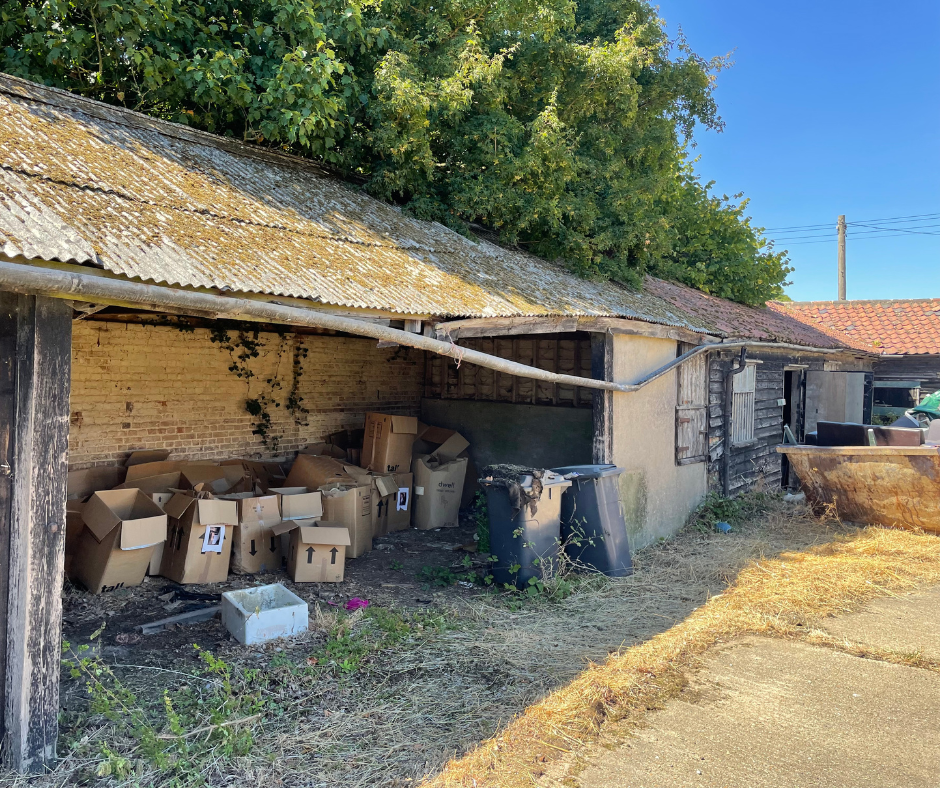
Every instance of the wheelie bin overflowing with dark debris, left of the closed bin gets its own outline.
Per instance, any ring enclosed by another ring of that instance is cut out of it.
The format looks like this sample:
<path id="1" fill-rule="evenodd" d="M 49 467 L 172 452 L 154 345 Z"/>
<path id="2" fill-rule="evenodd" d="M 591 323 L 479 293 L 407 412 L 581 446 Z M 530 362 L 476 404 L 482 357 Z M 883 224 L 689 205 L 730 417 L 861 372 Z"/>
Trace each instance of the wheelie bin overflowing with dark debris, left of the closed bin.
<path id="1" fill-rule="evenodd" d="M 542 497 L 536 504 L 535 514 L 524 506 L 515 517 L 505 487 L 487 479 L 480 479 L 480 484 L 486 491 L 490 553 L 496 557 L 490 568 L 493 582 L 499 586 L 508 583 L 525 588 L 532 578 L 541 580 L 554 572 L 561 544 L 563 493 L 571 482 L 547 472 L 542 479 Z M 531 486 L 528 489 L 531 490 Z"/>

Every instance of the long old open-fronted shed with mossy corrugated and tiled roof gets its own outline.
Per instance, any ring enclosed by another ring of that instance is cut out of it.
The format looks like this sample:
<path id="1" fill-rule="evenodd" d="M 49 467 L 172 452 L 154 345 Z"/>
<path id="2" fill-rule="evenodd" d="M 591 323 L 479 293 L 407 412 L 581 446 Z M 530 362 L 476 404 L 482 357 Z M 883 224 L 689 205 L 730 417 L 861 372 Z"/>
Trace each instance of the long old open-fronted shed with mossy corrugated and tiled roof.
<path id="1" fill-rule="evenodd" d="M 477 465 L 622 466 L 642 546 L 709 486 L 781 483 L 784 424 L 865 407 L 870 354 L 786 313 L 579 279 L 312 162 L 10 77 L 0 166 L 0 726 L 19 769 L 55 757 L 70 469 L 290 458 L 368 411 L 421 416 L 466 432 Z M 814 399 L 814 375 L 841 400 Z"/>

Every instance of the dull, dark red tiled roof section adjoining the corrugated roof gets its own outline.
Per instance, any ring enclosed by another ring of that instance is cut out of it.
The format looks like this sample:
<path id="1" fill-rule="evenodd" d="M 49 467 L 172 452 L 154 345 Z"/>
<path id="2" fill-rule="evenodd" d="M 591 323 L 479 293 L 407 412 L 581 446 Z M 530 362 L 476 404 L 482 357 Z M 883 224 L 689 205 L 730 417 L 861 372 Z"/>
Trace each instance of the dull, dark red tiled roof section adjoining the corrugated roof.
<path id="1" fill-rule="evenodd" d="M 788 342 L 823 348 L 848 344 L 843 337 L 821 331 L 778 309 L 744 306 L 651 276 L 646 278 L 643 289 L 681 309 L 716 335 L 729 339 Z"/>

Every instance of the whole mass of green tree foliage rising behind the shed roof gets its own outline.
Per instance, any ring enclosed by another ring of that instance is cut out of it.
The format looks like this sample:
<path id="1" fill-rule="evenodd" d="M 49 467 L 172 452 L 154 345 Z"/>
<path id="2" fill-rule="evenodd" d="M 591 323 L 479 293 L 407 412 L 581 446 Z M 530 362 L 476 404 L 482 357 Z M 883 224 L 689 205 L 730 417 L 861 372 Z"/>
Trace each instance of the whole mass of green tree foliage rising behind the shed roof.
<path id="1" fill-rule="evenodd" d="M 4 71 L 321 156 L 584 276 L 746 303 L 785 253 L 688 158 L 723 59 L 647 0 L 0 0 Z"/>

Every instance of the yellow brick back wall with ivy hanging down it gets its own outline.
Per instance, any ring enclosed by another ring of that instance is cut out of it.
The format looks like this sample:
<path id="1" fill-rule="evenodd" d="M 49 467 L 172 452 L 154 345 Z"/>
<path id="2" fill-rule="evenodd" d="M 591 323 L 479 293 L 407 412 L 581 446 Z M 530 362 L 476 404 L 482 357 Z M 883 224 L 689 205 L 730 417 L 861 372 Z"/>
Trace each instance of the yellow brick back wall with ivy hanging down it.
<path id="1" fill-rule="evenodd" d="M 237 355 L 244 345 L 237 331 L 228 333 Z M 211 336 L 207 329 L 74 323 L 69 466 L 123 462 L 135 449 L 170 449 L 172 459 L 285 456 L 362 427 L 370 410 L 418 415 L 421 351 L 378 349 L 371 339 L 260 334 L 257 357 L 239 365 L 253 373 L 246 379 L 229 369 L 236 359 Z M 307 414 L 286 407 L 295 346 L 307 351 L 297 385 Z M 267 407 L 268 447 L 252 434 L 257 419 L 245 410 L 262 393 L 280 403 Z"/>

